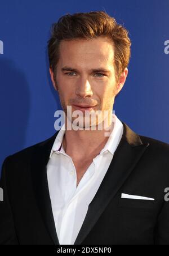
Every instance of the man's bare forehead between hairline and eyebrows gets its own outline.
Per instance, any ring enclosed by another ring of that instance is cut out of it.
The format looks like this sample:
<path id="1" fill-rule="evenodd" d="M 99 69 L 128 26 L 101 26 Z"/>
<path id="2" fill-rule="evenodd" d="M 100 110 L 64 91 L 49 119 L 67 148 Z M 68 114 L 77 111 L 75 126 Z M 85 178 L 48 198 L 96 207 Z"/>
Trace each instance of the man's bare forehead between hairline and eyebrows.
<path id="1" fill-rule="evenodd" d="M 107 37 L 63 40 L 60 43 L 60 63 L 71 65 L 113 65 L 113 42 Z"/>

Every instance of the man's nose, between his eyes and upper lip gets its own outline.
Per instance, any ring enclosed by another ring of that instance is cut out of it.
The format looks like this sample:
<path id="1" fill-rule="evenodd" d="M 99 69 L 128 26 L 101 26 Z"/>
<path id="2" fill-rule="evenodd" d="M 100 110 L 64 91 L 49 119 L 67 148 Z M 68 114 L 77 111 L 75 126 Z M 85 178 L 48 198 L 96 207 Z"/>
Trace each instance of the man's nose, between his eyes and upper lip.
<path id="1" fill-rule="evenodd" d="M 81 79 L 77 82 L 76 95 L 81 97 L 90 97 L 93 95 L 91 85 L 88 82 L 88 79 Z"/>

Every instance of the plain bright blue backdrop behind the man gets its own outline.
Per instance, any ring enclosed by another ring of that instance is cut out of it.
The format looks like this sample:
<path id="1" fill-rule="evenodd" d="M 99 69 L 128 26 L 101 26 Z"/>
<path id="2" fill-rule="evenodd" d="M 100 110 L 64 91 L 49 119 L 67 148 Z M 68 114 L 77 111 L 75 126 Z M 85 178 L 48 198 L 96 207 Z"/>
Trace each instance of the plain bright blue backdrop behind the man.
<path id="1" fill-rule="evenodd" d="M 169 143 L 168 0 L 0 0 L 0 165 L 6 156 L 49 138 L 61 109 L 48 72 L 51 24 L 74 12 L 105 10 L 130 32 L 129 73 L 113 110 L 140 135 Z"/>

